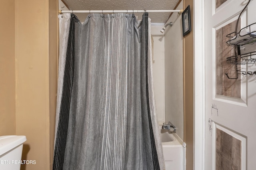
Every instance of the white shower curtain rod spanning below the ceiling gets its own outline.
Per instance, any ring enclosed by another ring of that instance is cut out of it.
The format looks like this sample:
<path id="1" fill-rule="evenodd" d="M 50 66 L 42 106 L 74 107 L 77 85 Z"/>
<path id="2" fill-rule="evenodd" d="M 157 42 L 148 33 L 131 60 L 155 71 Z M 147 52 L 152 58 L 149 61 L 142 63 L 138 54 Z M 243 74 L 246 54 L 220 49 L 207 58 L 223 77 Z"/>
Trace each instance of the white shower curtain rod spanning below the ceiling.
<path id="1" fill-rule="evenodd" d="M 183 10 L 59 10 L 59 13 L 138 13 L 138 12 L 183 12 Z"/>

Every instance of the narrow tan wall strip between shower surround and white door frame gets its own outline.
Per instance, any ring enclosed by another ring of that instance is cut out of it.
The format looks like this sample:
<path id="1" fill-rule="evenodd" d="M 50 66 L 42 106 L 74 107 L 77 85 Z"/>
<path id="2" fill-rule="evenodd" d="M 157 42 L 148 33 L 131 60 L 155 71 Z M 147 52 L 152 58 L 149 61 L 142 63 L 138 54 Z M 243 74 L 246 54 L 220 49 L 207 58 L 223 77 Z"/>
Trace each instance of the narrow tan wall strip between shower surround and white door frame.
<path id="1" fill-rule="evenodd" d="M 193 0 L 184 0 L 184 9 L 190 5 L 191 32 L 184 37 L 184 141 L 186 142 L 186 170 L 193 170 Z"/>

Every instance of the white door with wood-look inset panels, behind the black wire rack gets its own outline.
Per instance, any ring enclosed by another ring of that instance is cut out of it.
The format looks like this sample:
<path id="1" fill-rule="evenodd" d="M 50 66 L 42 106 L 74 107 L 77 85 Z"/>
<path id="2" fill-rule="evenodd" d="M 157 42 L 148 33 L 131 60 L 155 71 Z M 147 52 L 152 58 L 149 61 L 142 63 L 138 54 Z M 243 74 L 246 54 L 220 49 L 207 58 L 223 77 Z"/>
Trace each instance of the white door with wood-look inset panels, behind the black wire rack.
<path id="1" fill-rule="evenodd" d="M 249 60 L 244 64 L 236 63 L 235 58 L 226 61 L 232 56 L 238 56 L 239 60 L 238 49 L 240 54 L 256 51 L 256 43 L 237 47 L 237 41 L 226 37 L 235 31 L 236 20 L 247 2 L 204 1 L 205 170 L 256 169 L 256 74 L 241 74 L 253 73 L 256 66 L 248 64 Z M 255 22 L 256 0 L 251 0 L 237 31 Z M 256 30 L 253 26 L 250 28 Z M 233 47 L 229 46 L 230 42 Z M 237 76 L 235 63 L 238 79 L 228 79 L 226 72 L 230 78 Z"/>

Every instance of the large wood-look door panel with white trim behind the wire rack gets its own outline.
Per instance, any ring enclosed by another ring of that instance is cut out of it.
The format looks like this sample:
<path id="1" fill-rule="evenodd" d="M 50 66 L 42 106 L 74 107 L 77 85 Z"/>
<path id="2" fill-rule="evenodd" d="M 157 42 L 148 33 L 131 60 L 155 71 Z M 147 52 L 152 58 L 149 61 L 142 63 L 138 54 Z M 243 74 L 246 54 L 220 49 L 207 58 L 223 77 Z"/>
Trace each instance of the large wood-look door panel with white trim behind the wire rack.
<path id="1" fill-rule="evenodd" d="M 227 57 L 235 55 L 236 48 L 226 45 L 229 40 L 226 35 L 236 30 L 237 18 L 238 15 L 235 15 L 212 27 L 213 98 L 222 102 L 247 106 L 247 77 L 238 74 L 237 79 L 229 79 L 226 76 L 228 73 L 230 78 L 236 77 L 236 66 L 226 61 Z M 246 21 L 246 12 L 238 22 L 238 30 L 241 29 L 241 25 L 246 25 L 241 20 Z M 245 53 L 245 50 L 241 53 Z M 246 69 L 246 65 L 237 65 L 237 69 Z"/>

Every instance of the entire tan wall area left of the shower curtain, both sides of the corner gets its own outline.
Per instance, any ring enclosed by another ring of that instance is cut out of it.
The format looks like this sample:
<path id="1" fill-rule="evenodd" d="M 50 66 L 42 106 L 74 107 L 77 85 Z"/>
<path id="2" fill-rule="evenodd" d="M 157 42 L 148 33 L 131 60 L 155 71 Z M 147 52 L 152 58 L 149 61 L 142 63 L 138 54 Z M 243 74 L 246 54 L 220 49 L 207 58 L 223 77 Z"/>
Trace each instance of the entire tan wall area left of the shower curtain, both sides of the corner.
<path id="1" fill-rule="evenodd" d="M 0 85 L 0 135 L 26 135 L 22 159 L 36 164 L 21 169 L 52 169 L 58 1 L 1 4 L 0 78 L 5 83 Z"/>

